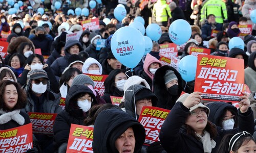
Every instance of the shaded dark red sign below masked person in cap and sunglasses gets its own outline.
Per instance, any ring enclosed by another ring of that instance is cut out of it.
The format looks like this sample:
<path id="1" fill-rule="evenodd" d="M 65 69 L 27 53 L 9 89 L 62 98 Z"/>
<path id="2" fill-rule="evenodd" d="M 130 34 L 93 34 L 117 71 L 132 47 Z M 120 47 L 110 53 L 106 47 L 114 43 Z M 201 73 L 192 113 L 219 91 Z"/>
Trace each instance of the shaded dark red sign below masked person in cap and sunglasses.
<path id="1" fill-rule="evenodd" d="M 53 135 L 53 124 L 57 114 L 29 112 L 33 134 Z"/>

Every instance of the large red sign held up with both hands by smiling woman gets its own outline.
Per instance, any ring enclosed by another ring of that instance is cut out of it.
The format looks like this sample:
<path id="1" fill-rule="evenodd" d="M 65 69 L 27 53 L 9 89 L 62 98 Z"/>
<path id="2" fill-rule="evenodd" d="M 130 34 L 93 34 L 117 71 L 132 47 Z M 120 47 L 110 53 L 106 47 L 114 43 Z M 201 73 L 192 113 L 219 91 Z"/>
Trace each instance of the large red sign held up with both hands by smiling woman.
<path id="1" fill-rule="evenodd" d="M 244 61 L 210 55 L 198 55 L 195 91 L 203 99 L 240 101 L 244 85 Z"/>

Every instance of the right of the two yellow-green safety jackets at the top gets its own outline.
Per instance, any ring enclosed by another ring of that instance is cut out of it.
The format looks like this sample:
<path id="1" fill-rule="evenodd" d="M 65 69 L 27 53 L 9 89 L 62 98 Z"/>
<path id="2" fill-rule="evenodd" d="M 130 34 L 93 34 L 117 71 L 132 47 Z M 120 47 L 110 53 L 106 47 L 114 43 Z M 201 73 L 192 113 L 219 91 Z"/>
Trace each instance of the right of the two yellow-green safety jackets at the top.
<path id="1" fill-rule="evenodd" d="M 227 21 L 227 9 L 226 4 L 221 0 L 209 0 L 207 1 L 201 10 L 201 24 L 204 24 L 204 20 L 209 14 L 214 14 L 217 23 L 223 23 Z"/>

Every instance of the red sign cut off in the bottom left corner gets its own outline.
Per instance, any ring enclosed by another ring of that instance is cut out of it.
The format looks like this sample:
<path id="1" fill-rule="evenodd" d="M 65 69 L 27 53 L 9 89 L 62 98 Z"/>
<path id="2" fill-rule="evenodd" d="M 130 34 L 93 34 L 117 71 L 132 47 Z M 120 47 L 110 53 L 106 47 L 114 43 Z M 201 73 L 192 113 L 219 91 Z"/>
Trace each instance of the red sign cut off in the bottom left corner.
<path id="1" fill-rule="evenodd" d="M 32 124 L 0 130 L 0 152 L 26 152 L 33 147 Z"/>

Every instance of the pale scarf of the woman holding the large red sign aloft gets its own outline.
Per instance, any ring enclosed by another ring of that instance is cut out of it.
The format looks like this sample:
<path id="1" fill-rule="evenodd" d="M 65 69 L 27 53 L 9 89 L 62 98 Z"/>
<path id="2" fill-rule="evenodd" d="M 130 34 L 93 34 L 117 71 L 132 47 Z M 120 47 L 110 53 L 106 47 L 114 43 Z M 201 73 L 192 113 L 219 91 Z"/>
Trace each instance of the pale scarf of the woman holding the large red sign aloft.
<path id="1" fill-rule="evenodd" d="M 216 146 L 216 142 L 213 139 L 210 139 L 210 134 L 204 130 L 204 136 L 201 136 L 196 133 L 196 135 L 200 138 L 201 142 L 204 146 L 204 152 L 210 153 L 211 149 Z"/>

